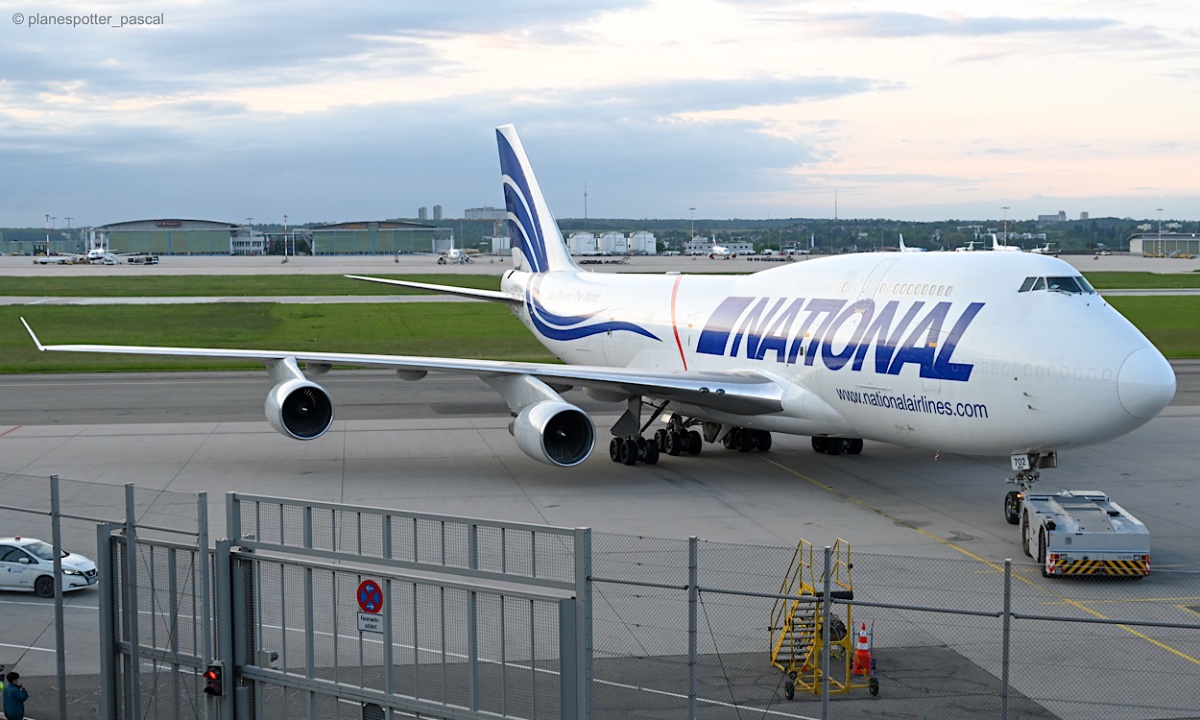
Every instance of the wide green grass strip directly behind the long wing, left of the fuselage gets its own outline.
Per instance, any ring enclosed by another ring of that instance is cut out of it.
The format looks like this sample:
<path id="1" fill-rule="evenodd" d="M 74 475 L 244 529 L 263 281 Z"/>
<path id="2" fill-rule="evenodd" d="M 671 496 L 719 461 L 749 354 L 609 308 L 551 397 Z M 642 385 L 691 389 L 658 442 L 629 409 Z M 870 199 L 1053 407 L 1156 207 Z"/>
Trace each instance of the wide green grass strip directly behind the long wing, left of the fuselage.
<path id="1" fill-rule="evenodd" d="M 475 302 L 115 305 L 0 307 L 0 372 L 262 368 L 258 362 L 38 353 L 46 344 L 140 344 L 385 353 L 553 362 L 509 308 Z"/>

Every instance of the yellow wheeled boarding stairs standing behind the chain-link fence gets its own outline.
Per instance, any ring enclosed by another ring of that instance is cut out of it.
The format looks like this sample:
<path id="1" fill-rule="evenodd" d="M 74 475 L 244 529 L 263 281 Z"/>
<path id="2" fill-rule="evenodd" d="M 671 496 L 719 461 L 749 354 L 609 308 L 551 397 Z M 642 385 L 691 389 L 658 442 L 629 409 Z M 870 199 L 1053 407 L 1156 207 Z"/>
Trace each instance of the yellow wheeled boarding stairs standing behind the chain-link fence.
<path id="1" fill-rule="evenodd" d="M 839 538 L 833 544 L 830 598 L 854 599 L 850 569 L 850 542 Z M 779 588 L 780 595 L 791 598 L 775 600 L 770 611 L 770 664 L 787 674 L 784 685 L 787 700 L 796 696 L 797 689 L 821 694 L 824 676 L 821 668 L 823 593 L 824 548 L 817 552 L 811 542 L 800 540 Z M 845 608 L 845 622 L 835 612 L 829 613 L 829 694 L 866 688 L 871 695 L 878 695 L 880 683 L 870 672 L 865 676 L 851 674 L 856 636 L 847 631 L 847 628 L 854 626 L 851 606 Z"/>

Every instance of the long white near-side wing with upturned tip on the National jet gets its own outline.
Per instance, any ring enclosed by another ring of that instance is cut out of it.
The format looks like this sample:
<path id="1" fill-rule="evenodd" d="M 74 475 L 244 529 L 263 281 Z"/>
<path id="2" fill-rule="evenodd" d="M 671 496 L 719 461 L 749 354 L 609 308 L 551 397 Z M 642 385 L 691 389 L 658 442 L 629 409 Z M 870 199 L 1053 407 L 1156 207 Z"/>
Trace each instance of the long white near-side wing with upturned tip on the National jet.
<path id="1" fill-rule="evenodd" d="M 416 283 L 421 284 L 421 283 Z M 472 290 L 473 293 L 486 290 Z M 506 362 L 415 355 L 373 355 L 366 353 L 314 353 L 312 350 L 248 350 L 110 344 L 42 344 L 25 318 L 20 319 L 41 352 L 109 353 L 125 355 L 173 355 L 259 360 L 264 364 L 293 359 L 308 365 L 391 367 L 416 372 L 473 374 L 480 378 L 532 376 L 548 385 L 593 388 L 619 394 L 644 395 L 714 410 L 746 415 L 782 410 L 784 386 L 756 372 L 655 373 L 642 370 L 551 362 Z"/>

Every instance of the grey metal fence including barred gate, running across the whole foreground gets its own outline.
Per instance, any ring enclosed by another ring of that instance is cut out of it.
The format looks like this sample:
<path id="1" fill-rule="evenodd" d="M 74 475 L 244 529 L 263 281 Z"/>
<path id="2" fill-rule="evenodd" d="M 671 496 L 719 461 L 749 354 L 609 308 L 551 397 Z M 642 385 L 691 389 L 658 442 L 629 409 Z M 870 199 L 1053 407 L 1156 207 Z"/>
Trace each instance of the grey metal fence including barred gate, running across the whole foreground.
<path id="1" fill-rule="evenodd" d="M 228 539 L 212 544 L 203 496 L 61 481 L 54 502 L 50 487 L 0 475 L 5 534 L 48 538 L 58 524 L 61 546 L 97 558 L 102 582 L 58 604 L 0 594 L 0 662 L 32 690 L 34 718 L 1200 710 L 1194 572 L 1045 578 L 1024 558 L 852 552 L 852 600 L 824 590 L 823 560 L 802 598 L 784 582 L 794 547 L 235 493 Z M 359 606 L 364 582 L 379 590 L 373 612 Z M 772 665 L 779 604 L 793 601 L 828 618 L 828 656 L 805 656 L 796 678 Z M 877 695 L 847 676 L 862 629 Z M 222 698 L 203 692 L 214 659 L 229 668 Z M 851 686 L 826 694 L 826 679 Z"/>

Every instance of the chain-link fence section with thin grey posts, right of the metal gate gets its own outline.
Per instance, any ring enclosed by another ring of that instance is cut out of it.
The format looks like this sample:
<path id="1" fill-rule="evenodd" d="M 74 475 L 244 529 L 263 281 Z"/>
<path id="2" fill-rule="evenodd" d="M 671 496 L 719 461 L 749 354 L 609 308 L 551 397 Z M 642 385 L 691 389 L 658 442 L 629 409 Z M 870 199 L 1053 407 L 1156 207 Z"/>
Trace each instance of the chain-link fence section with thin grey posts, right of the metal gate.
<path id="1" fill-rule="evenodd" d="M 828 616 L 833 636 L 845 640 L 828 643 L 828 665 L 806 656 L 808 646 L 788 664 L 772 656 L 781 631 L 772 618 L 796 592 L 784 582 L 796 548 L 700 541 L 689 562 L 686 540 L 598 533 L 593 553 L 596 716 L 1082 720 L 1200 712 L 1200 574 L 1045 578 L 1026 562 L 1006 570 L 976 558 L 853 553 L 853 600 L 835 589 Z M 811 622 L 814 605 L 821 617 L 820 583 L 808 600 L 798 604 L 797 626 Z M 859 676 L 863 631 L 872 665 Z"/>

